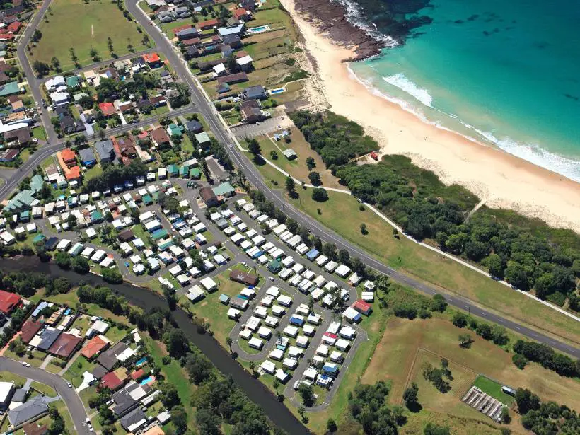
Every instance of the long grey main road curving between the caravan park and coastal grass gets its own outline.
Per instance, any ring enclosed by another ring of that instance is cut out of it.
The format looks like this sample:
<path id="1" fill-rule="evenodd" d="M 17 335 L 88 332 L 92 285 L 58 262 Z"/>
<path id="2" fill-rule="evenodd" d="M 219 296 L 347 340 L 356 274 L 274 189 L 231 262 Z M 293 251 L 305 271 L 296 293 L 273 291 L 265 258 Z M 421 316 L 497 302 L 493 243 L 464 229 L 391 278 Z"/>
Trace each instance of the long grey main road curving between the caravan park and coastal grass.
<path id="1" fill-rule="evenodd" d="M 209 123 L 209 127 L 211 128 L 211 131 L 214 132 L 216 139 L 218 139 L 219 142 L 225 146 L 226 151 L 228 152 L 232 161 L 236 163 L 236 166 L 243 170 L 248 182 L 253 184 L 257 190 L 264 192 L 264 195 L 267 197 L 267 199 L 274 202 L 276 207 L 279 209 L 284 209 L 284 212 L 287 216 L 296 220 L 298 224 L 301 224 L 305 228 L 309 228 L 311 233 L 313 233 L 315 236 L 318 236 L 327 242 L 335 243 L 339 249 L 348 250 L 350 255 L 356 255 L 360 257 L 366 265 L 376 269 L 382 274 L 387 275 L 397 282 L 411 286 L 414 289 L 422 291 L 424 294 L 434 295 L 443 293 L 447 302 L 451 306 L 460 308 L 463 311 L 470 311 L 470 313 L 473 315 L 477 315 L 480 318 L 489 320 L 493 323 L 498 323 L 499 325 L 502 325 L 510 330 L 514 330 L 518 334 L 524 335 L 532 340 L 548 344 L 561 352 L 565 352 L 580 359 L 580 349 L 577 349 L 576 347 L 572 347 L 564 342 L 554 340 L 547 335 L 536 332 L 535 330 L 520 325 L 512 320 L 503 318 L 501 315 L 486 311 L 478 306 L 473 305 L 472 302 L 467 298 L 456 296 L 454 294 L 448 294 L 444 291 L 444 289 L 436 289 L 434 286 L 424 284 L 419 279 L 414 279 L 407 276 L 406 274 L 398 272 L 392 267 L 383 265 L 383 263 L 374 260 L 373 257 L 370 257 L 363 250 L 345 240 L 334 231 L 325 228 L 325 226 L 318 223 L 318 221 L 315 219 L 312 219 L 310 216 L 306 216 L 306 214 L 298 211 L 294 206 L 285 201 L 284 197 L 282 196 L 282 192 L 275 192 L 271 190 L 262 180 L 262 176 L 257 172 L 255 166 L 253 166 L 245 154 L 240 151 L 236 145 L 233 144 L 234 141 L 231 132 L 226 130 L 224 124 L 222 124 L 219 120 L 219 115 L 217 114 L 216 109 L 213 105 L 211 105 L 211 103 L 209 103 L 202 90 L 197 86 L 195 79 L 193 78 L 192 74 L 190 74 L 190 71 L 187 68 L 187 64 L 182 59 L 180 53 L 176 52 L 177 49 L 169 42 L 166 36 L 163 35 L 163 33 L 161 33 L 161 31 L 158 30 L 155 25 L 151 24 L 149 18 L 147 18 L 144 12 L 141 11 L 141 8 L 137 6 L 137 1 L 138 0 L 126 1 L 126 6 L 129 13 L 131 13 L 132 16 L 134 16 L 135 19 L 139 22 L 139 24 L 141 24 L 143 28 L 147 30 L 151 36 L 151 39 L 156 43 L 158 50 L 166 54 L 170 64 L 173 66 L 178 76 L 180 76 L 180 78 L 190 86 L 192 91 L 192 99 L 195 101 L 195 105 L 199 109 L 199 112 Z"/>

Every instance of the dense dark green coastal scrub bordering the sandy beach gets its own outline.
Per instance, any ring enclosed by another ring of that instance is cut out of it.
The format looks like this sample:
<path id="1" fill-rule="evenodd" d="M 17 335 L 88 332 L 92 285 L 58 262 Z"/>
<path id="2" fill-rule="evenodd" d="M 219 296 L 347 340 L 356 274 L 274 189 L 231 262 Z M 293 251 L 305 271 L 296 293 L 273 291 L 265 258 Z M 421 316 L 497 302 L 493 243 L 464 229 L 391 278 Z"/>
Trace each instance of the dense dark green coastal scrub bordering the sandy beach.
<path id="1" fill-rule="evenodd" d="M 344 117 L 295 112 L 291 115 L 311 148 L 352 194 L 373 204 L 417 240 L 430 239 L 441 250 L 487 267 L 523 291 L 580 310 L 580 237 L 550 228 L 513 211 L 482 207 L 480 199 L 458 185 L 446 186 L 405 156 L 384 156 L 378 164 L 350 160 L 376 149 L 364 130 Z M 347 144 L 352 147 L 347 151 Z"/>

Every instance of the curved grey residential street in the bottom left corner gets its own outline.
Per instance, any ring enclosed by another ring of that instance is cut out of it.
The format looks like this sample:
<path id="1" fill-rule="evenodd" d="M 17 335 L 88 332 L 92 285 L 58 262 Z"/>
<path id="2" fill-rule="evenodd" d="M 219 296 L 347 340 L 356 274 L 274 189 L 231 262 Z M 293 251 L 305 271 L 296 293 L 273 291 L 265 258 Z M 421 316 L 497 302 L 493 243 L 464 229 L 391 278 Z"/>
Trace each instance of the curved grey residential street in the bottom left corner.
<path id="1" fill-rule="evenodd" d="M 36 367 L 25 367 L 20 362 L 8 359 L 6 356 L 0 356 L 0 371 L 9 371 L 18 376 L 23 376 L 50 385 L 52 388 L 57 390 L 60 398 L 62 398 L 66 407 L 69 409 L 76 434 L 90 434 L 85 424 L 87 414 L 83 402 L 74 388 L 69 388 L 66 385 L 66 381 L 64 381 L 63 378 L 47 371 L 37 369 Z"/>

